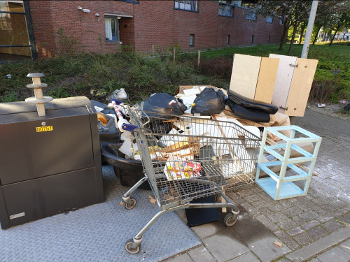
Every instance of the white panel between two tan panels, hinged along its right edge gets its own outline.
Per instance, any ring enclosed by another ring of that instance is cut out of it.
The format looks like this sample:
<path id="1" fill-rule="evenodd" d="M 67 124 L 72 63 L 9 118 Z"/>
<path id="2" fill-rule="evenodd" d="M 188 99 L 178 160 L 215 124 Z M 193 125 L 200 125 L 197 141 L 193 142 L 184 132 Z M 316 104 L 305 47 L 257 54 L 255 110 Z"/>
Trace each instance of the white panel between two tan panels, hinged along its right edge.
<path id="1" fill-rule="evenodd" d="M 294 67 L 290 64 L 296 64 L 297 57 L 288 57 L 280 54 L 269 54 L 271 58 L 279 58 L 279 69 L 277 70 L 276 82 L 274 83 L 274 94 L 272 95 L 272 104 L 279 108 L 279 112 L 284 114 L 286 108 L 290 84 L 293 78 Z"/>

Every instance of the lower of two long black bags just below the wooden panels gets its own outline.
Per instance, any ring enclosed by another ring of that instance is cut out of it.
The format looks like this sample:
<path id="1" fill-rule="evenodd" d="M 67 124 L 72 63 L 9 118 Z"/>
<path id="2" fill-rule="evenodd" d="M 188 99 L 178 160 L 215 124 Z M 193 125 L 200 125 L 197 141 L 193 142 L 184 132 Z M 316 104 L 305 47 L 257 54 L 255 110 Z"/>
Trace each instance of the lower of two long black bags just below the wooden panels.
<path id="1" fill-rule="evenodd" d="M 237 117 L 251 120 L 254 122 L 268 123 L 269 114 L 267 112 L 255 109 L 244 108 L 237 103 L 232 102 L 230 99 L 226 101 L 227 105 L 230 107 L 232 112 L 237 115 Z"/>

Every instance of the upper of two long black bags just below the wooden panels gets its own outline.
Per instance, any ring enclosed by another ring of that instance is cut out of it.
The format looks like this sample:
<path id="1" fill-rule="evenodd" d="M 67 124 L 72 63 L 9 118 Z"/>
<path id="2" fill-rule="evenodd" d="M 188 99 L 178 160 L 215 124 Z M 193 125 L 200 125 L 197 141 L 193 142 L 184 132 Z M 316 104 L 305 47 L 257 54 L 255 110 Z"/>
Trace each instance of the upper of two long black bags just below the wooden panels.
<path id="1" fill-rule="evenodd" d="M 276 112 L 279 110 L 279 108 L 277 108 L 276 105 L 261 102 L 258 100 L 248 99 L 248 97 L 241 96 L 240 94 L 237 94 L 236 92 L 232 91 L 228 92 L 228 98 L 232 102 L 237 103 L 237 105 L 241 105 L 244 108 L 260 110 L 272 115 L 276 114 Z"/>

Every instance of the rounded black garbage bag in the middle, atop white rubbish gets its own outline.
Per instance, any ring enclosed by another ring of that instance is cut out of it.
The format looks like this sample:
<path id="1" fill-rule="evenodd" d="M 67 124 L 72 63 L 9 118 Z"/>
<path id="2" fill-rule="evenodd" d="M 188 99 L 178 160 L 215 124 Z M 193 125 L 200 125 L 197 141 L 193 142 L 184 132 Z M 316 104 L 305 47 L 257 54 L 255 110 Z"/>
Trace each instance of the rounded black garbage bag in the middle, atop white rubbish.
<path id="1" fill-rule="evenodd" d="M 223 112 L 225 109 L 225 95 L 221 90 L 216 92 L 214 88 L 204 89 L 195 99 L 195 105 L 191 113 L 200 113 L 200 115 L 215 115 Z"/>

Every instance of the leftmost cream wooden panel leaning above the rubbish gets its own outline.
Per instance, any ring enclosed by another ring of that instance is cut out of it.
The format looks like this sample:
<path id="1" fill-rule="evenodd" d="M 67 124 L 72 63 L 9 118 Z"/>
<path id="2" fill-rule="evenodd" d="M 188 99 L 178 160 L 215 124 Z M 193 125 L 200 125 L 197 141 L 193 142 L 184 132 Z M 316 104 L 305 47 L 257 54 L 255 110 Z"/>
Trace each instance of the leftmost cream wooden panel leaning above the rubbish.
<path id="1" fill-rule="evenodd" d="M 232 66 L 230 90 L 248 99 L 254 99 L 261 57 L 235 54 Z"/>

